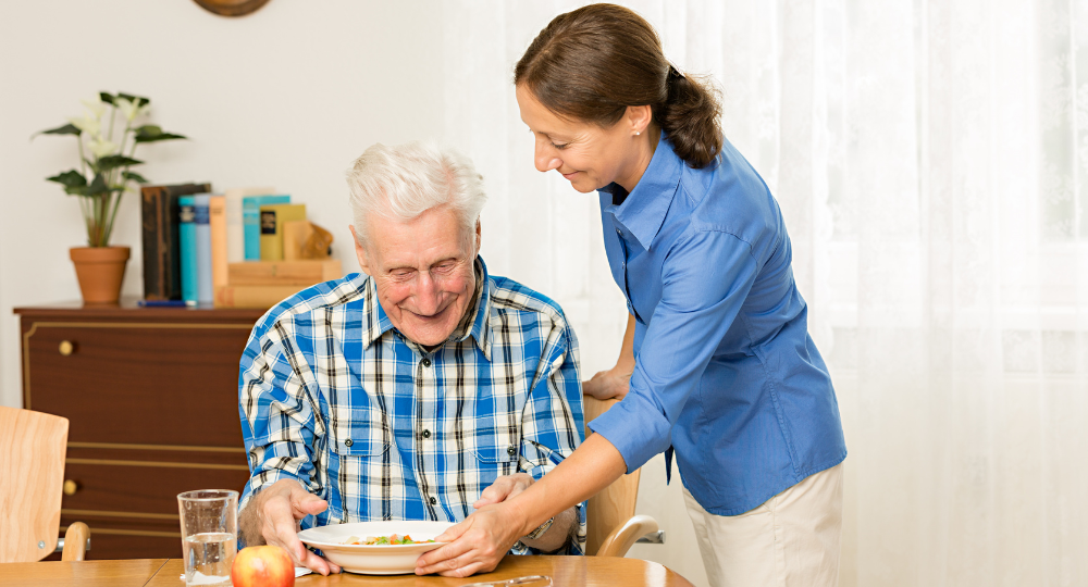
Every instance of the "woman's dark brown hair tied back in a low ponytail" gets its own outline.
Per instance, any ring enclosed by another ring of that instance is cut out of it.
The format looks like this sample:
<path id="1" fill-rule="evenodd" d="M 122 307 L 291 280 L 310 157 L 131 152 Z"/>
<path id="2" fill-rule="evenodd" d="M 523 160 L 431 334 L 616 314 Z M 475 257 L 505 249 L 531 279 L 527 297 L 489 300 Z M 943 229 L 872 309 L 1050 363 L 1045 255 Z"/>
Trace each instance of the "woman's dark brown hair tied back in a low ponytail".
<path id="1" fill-rule="evenodd" d="M 695 168 L 721 152 L 717 90 L 672 67 L 654 27 L 622 7 L 591 4 L 556 16 L 518 60 L 514 84 L 560 116 L 602 127 L 629 105 L 648 104 L 672 149 Z"/>

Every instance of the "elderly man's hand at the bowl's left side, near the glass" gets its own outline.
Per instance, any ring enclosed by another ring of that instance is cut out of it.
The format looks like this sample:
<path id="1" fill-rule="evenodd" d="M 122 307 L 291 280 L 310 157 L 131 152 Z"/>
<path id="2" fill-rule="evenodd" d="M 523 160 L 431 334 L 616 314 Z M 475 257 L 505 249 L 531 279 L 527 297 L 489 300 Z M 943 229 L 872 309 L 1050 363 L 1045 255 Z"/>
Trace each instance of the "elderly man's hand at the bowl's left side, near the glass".
<path id="1" fill-rule="evenodd" d="M 249 502 L 238 525 L 249 546 L 269 544 L 283 547 L 296 566 L 314 573 L 339 573 L 339 566 L 307 550 L 298 539 L 298 521 L 329 508 L 325 500 L 307 491 L 295 479 L 280 479 Z"/>

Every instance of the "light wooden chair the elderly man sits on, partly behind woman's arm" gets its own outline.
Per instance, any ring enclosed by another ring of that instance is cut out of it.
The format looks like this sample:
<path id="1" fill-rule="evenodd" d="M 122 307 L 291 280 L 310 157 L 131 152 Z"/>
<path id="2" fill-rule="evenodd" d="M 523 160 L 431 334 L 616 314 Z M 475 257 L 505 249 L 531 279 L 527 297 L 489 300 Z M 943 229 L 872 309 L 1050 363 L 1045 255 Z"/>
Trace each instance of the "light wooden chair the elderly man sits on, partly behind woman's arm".
<path id="1" fill-rule="evenodd" d="M 585 422 L 608 411 L 619 400 L 598 400 L 582 396 Z M 589 426 L 585 435 L 590 435 Z M 585 512 L 586 554 L 623 557 L 640 538 L 651 537 L 650 542 L 664 542 L 665 533 L 658 530 L 657 521 L 648 515 L 634 515 L 639 499 L 639 473 L 623 475 L 616 483 L 590 498 Z"/>

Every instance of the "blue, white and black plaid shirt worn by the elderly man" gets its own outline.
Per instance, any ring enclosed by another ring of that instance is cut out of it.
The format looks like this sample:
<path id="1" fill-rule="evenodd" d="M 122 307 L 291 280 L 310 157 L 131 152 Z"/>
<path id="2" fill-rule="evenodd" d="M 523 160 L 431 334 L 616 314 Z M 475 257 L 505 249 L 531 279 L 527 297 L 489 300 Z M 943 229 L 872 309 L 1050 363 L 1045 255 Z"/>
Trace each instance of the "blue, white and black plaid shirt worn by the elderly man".
<path id="1" fill-rule="evenodd" d="M 238 377 L 245 508 L 297 479 L 329 509 L 304 528 L 461 521 L 499 475 L 540 479 L 581 442 L 578 341 L 558 304 L 477 262 L 477 300 L 429 352 L 400 335 L 370 277 L 305 289 L 254 327 Z M 470 320 L 471 319 L 471 320 Z M 582 553 L 585 504 L 578 507 Z M 512 552 L 530 553 L 521 542 Z"/>

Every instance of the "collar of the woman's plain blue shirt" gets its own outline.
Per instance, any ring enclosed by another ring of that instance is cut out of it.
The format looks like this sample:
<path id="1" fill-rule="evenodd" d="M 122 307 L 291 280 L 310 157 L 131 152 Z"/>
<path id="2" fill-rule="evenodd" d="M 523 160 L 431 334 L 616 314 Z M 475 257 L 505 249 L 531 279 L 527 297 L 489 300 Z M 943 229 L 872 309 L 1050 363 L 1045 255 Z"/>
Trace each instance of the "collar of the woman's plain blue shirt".
<path id="1" fill-rule="evenodd" d="M 616 222 L 627 228 L 647 251 L 665 223 L 665 214 L 672 205 L 682 171 L 683 161 L 672 151 L 672 145 L 665 140 L 663 132 L 639 185 L 634 186 L 622 203 L 611 205 L 610 211 L 616 216 Z M 616 183 L 608 184 L 599 191 L 611 196 L 627 192 Z"/>

